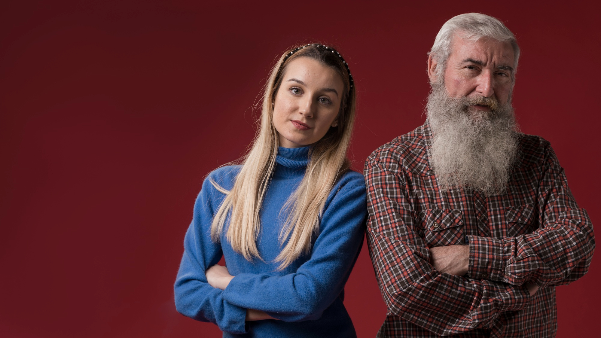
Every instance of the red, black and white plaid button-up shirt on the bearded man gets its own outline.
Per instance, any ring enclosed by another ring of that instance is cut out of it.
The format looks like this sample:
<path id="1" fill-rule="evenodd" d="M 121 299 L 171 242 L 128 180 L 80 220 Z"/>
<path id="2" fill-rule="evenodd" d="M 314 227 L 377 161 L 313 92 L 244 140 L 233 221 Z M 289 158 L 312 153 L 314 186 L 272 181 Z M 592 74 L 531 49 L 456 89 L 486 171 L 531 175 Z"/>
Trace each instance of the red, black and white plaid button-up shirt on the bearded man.
<path id="1" fill-rule="evenodd" d="M 548 141 L 522 135 L 507 192 L 442 192 L 426 124 L 365 162 L 371 260 L 388 307 L 378 337 L 553 337 L 555 287 L 582 277 L 593 226 Z M 469 243 L 465 276 L 436 271 L 431 247 Z M 531 297 L 526 283 L 540 289 Z"/>

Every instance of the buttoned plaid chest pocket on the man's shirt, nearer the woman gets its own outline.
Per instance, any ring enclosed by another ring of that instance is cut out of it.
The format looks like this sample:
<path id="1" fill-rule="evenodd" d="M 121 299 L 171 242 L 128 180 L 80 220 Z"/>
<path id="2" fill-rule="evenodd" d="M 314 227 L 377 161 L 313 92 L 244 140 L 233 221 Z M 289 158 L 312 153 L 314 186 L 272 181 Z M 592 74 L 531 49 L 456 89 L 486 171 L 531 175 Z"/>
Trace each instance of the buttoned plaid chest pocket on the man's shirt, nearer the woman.
<path id="1" fill-rule="evenodd" d="M 421 213 L 428 247 L 463 244 L 463 218 L 457 209 L 427 209 Z"/>

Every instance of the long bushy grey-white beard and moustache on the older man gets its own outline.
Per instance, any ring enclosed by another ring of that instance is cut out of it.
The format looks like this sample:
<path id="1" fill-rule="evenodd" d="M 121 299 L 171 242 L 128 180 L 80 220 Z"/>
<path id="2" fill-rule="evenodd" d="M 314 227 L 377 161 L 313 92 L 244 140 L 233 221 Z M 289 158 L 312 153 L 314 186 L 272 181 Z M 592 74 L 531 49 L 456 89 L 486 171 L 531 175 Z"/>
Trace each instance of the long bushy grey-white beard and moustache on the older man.
<path id="1" fill-rule="evenodd" d="M 469 108 L 475 103 L 486 103 L 490 111 Z M 511 102 L 456 99 L 444 84 L 433 84 L 426 109 L 433 134 L 430 162 L 442 191 L 462 187 L 487 196 L 502 194 L 519 135 Z"/>

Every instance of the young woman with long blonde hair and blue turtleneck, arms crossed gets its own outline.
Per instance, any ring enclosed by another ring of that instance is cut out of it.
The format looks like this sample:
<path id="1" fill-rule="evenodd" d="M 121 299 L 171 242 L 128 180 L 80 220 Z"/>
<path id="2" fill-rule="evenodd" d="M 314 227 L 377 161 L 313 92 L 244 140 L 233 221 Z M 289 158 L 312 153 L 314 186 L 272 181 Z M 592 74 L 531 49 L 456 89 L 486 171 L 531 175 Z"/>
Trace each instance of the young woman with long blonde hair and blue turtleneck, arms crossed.
<path id="1" fill-rule="evenodd" d="M 242 165 L 209 174 L 175 281 L 178 312 L 224 337 L 355 337 L 343 289 L 367 214 L 346 158 L 355 87 L 322 44 L 286 52 Z M 216 265 L 225 256 L 225 266 Z"/>

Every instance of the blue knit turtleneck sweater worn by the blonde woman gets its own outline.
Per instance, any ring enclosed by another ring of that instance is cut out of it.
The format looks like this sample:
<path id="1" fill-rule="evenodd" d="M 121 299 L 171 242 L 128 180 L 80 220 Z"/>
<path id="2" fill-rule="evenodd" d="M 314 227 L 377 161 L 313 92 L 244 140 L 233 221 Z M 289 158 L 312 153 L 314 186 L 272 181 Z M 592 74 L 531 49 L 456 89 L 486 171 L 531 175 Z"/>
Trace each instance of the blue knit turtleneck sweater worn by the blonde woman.
<path id="1" fill-rule="evenodd" d="M 363 241 L 367 206 L 361 174 L 347 171 L 332 188 L 311 253 L 276 270 L 279 263 L 274 260 L 283 247 L 279 230 L 287 217 L 280 211 L 305 174 L 308 152 L 309 147 L 278 150 L 260 214 L 257 248 L 262 260 L 244 259 L 224 234 L 218 243 L 211 240 L 213 214 L 225 195 L 209 179 L 204 181 L 175 280 L 178 312 L 217 324 L 224 337 L 356 336 L 343 305 L 343 290 Z M 239 170 L 238 165 L 221 167 L 209 177 L 230 190 Z M 210 286 L 204 274 L 222 256 L 235 276 L 225 290 Z M 263 310 L 280 320 L 245 322 L 246 309 Z"/>

